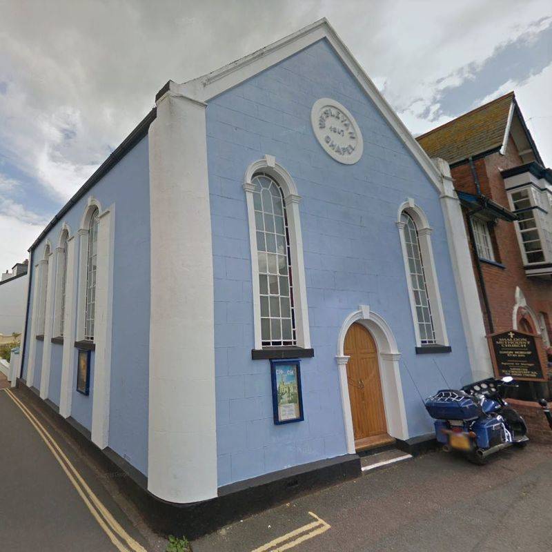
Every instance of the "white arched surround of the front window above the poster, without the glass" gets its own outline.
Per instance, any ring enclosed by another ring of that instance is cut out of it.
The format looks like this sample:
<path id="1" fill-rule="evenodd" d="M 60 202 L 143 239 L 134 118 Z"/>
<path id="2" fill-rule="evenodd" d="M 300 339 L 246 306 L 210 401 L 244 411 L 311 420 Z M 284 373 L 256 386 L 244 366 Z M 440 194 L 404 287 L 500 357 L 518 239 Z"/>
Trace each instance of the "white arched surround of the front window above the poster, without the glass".
<path id="1" fill-rule="evenodd" d="M 255 349 L 262 349 L 261 339 L 261 301 L 259 290 L 259 262 L 257 256 L 257 232 L 255 226 L 255 206 L 253 177 L 263 172 L 273 178 L 282 189 L 288 217 L 291 272 L 293 275 L 293 298 L 295 308 L 295 335 L 297 347 L 311 348 L 311 337 L 308 329 L 308 310 L 306 302 L 306 280 L 303 259 L 303 238 L 299 222 L 299 201 L 297 186 L 288 171 L 276 163 L 275 157 L 265 155 L 250 164 L 246 170 L 244 190 L 246 193 L 249 221 L 249 239 L 251 248 L 251 274 L 253 279 L 253 315 L 255 326 Z"/>

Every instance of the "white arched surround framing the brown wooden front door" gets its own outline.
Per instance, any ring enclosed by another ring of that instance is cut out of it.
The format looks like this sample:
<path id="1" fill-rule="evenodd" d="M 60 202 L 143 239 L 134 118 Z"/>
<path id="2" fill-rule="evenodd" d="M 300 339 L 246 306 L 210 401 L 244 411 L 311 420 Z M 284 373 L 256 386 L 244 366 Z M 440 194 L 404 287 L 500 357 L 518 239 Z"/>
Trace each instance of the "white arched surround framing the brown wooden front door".
<path id="1" fill-rule="evenodd" d="M 344 355 L 345 336 L 348 329 L 355 323 L 362 324 L 373 336 L 377 347 L 380 365 L 380 378 L 384 394 L 385 417 L 387 432 L 395 439 L 408 439 L 408 425 L 406 424 L 406 409 L 402 394 L 400 375 L 400 352 L 391 328 L 385 319 L 370 310 L 366 305 L 359 306 L 359 310 L 351 313 L 344 320 L 337 339 L 337 366 L 339 368 L 339 386 L 341 388 L 343 420 L 347 442 L 347 452 L 355 453 L 355 435 L 353 433 L 353 417 L 351 415 L 351 401 L 349 399 L 347 383 L 347 362 L 349 357 Z"/>

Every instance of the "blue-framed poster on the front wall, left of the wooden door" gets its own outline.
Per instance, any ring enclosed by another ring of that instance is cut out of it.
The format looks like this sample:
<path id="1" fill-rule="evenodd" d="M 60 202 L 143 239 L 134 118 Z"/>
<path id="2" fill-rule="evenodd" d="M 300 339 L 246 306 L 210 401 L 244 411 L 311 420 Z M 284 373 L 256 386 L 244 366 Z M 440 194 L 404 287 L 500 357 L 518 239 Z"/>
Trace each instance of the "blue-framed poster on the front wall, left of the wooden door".
<path id="1" fill-rule="evenodd" d="M 299 360 L 271 360 L 274 423 L 303 420 Z"/>

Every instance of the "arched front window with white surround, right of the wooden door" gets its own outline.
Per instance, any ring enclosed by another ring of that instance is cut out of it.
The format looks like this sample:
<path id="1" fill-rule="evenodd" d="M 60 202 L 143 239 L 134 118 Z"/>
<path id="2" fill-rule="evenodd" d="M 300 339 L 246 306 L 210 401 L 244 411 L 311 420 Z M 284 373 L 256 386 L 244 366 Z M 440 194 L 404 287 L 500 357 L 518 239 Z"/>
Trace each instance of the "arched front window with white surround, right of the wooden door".
<path id="1" fill-rule="evenodd" d="M 450 351 L 431 247 L 431 227 L 413 199 L 400 206 L 397 226 L 411 302 L 416 352 Z M 442 347 L 437 350 L 437 346 Z"/>

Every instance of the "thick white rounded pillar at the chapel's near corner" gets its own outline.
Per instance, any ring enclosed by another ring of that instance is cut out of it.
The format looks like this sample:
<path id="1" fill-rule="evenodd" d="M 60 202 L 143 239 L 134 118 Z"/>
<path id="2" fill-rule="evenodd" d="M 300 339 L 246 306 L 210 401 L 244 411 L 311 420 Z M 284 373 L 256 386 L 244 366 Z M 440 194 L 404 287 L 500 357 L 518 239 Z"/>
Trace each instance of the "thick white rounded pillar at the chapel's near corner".
<path id="1" fill-rule="evenodd" d="M 180 503 L 217 496 L 205 108 L 169 90 L 149 131 L 148 491 Z"/>

